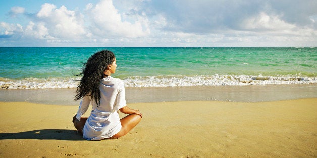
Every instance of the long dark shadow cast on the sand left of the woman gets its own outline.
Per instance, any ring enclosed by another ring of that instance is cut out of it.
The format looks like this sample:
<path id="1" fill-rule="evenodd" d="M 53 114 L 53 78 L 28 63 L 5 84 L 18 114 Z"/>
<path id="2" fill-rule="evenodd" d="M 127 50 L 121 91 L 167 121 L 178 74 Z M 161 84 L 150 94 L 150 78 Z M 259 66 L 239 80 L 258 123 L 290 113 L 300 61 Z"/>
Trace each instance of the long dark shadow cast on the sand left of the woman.
<path id="1" fill-rule="evenodd" d="M 77 130 L 38 129 L 18 133 L 0 133 L 0 140 L 39 139 L 39 140 L 85 140 Z"/>

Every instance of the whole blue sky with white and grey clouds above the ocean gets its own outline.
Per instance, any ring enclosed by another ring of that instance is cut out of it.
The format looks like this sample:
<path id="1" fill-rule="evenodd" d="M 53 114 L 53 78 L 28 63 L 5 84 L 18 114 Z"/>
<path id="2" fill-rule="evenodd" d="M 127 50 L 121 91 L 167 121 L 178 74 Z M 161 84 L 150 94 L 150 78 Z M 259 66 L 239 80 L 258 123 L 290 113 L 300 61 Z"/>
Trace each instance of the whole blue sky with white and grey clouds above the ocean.
<path id="1" fill-rule="evenodd" d="M 0 47 L 317 46 L 316 0 L 0 2 Z"/>

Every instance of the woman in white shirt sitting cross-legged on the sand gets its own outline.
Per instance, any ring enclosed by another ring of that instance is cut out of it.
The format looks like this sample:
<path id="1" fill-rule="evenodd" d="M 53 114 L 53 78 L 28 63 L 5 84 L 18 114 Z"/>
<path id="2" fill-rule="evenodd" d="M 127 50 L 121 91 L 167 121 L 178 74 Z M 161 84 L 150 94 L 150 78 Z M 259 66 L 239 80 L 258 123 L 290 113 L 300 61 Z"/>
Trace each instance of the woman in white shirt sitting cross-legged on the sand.
<path id="1" fill-rule="evenodd" d="M 82 78 L 75 100 L 82 101 L 73 123 L 87 140 L 117 139 L 141 121 L 140 111 L 126 106 L 123 81 L 110 76 L 116 67 L 114 53 L 103 50 L 91 55 L 79 74 Z M 90 116 L 81 117 L 89 104 L 92 104 Z M 118 110 L 129 115 L 120 119 Z"/>

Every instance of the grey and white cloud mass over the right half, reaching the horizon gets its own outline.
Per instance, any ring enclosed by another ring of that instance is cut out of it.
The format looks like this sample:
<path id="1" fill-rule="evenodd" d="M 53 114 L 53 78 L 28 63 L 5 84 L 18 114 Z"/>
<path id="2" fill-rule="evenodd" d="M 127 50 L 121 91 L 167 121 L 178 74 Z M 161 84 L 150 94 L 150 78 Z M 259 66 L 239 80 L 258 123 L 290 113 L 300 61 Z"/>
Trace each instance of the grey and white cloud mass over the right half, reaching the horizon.
<path id="1" fill-rule="evenodd" d="M 157 29 L 172 34 L 173 41 L 184 45 L 194 45 L 196 40 L 204 46 L 278 46 L 285 44 L 280 41 L 287 41 L 289 45 L 296 42 L 315 45 L 316 2 L 162 0 L 153 1 L 149 6 L 151 12 L 162 16 L 167 24 Z M 183 38 L 177 32 L 191 36 Z"/>

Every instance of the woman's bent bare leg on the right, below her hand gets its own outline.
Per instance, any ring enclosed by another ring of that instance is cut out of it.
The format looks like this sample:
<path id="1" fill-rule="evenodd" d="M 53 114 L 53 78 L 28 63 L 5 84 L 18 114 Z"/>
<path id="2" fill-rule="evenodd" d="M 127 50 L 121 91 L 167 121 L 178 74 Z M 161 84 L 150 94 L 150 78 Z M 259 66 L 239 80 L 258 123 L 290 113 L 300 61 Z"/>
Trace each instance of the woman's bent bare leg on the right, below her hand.
<path id="1" fill-rule="evenodd" d="M 137 114 L 130 114 L 122 119 L 121 122 L 121 130 L 115 134 L 114 136 L 108 139 L 118 139 L 121 136 L 126 135 L 133 127 L 135 127 L 141 121 L 141 116 Z"/>

